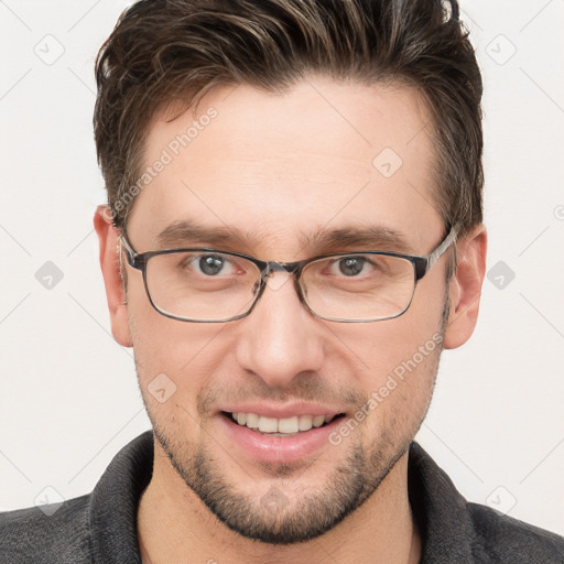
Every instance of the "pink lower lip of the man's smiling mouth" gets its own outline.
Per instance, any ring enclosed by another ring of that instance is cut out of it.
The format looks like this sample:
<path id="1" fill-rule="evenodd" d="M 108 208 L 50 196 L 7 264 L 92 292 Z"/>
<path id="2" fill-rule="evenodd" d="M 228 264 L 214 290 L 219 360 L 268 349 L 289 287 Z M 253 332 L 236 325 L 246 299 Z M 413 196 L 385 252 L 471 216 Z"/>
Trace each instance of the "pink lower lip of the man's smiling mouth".
<path id="1" fill-rule="evenodd" d="M 323 446 L 328 445 L 329 435 L 341 423 L 343 416 L 335 417 L 323 427 L 313 427 L 293 436 L 270 436 L 247 426 L 239 425 L 230 416 L 224 414 L 219 419 L 227 434 L 242 451 L 252 458 L 264 463 L 293 463 L 312 456 Z"/>

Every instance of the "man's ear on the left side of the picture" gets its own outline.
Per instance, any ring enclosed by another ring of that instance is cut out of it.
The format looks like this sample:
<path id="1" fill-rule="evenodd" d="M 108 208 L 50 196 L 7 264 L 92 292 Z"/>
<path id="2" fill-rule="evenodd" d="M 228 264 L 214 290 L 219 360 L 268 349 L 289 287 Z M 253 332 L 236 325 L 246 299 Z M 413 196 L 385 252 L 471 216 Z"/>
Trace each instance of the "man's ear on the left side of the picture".
<path id="1" fill-rule="evenodd" d="M 119 270 L 120 230 L 113 226 L 113 217 L 108 206 L 101 205 L 94 214 L 94 227 L 100 242 L 100 267 L 106 285 L 106 297 L 110 312 L 111 334 L 123 347 L 131 347 L 126 293 Z"/>

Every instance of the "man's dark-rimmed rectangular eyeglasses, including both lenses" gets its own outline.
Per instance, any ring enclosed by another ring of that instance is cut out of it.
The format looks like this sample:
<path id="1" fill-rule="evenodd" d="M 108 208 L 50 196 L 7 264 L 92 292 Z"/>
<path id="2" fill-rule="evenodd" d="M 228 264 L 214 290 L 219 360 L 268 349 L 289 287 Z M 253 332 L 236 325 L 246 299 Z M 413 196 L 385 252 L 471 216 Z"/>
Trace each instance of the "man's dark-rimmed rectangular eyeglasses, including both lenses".
<path id="1" fill-rule="evenodd" d="M 426 257 L 389 251 L 323 254 L 297 262 L 262 261 L 209 248 L 138 253 L 126 234 L 121 242 L 130 267 L 140 270 L 147 295 L 161 314 L 183 322 L 224 323 L 249 315 L 269 276 L 294 276 L 301 302 L 316 317 L 364 323 L 406 312 L 417 281 L 453 245 L 457 227 Z"/>

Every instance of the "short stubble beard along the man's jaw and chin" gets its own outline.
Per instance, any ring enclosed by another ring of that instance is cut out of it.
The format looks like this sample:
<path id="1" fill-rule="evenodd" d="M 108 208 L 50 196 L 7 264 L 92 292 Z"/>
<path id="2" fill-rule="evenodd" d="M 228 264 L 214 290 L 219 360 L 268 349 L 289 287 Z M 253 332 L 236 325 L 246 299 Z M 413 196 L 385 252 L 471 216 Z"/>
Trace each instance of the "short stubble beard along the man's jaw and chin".
<path id="1" fill-rule="evenodd" d="M 189 453 L 185 444 L 171 441 L 170 434 L 160 427 L 153 427 L 153 432 L 186 486 L 223 523 L 242 536 L 270 544 L 304 542 L 336 527 L 370 497 L 411 442 L 406 440 L 398 448 L 382 437 L 380 447 L 369 454 L 360 444 L 355 445 L 318 491 L 304 494 L 290 503 L 284 490 L 286 484 L 292 484 L 291 478 L 285 482 L 273 480 L 268 492 L 257 499 L 237 491 L 236 485 L 221 471 L 221 463 L 213 458 L 205 444 Z M 280 470 L 291 474 L 286 468 Z"/>

